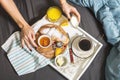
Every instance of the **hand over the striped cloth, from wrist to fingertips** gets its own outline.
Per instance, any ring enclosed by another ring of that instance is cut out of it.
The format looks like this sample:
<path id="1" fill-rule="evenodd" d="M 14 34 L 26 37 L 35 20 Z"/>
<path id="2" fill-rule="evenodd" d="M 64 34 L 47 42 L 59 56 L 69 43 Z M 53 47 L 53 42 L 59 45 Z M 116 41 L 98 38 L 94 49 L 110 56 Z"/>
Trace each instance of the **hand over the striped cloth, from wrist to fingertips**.
<path id="1" fill-rule="evenodd" d="M 35 33 L 34 33 L 34 30 L 29 25 L 26 25 L 23 28 L 21 28 L 21 46 L 22 47 L 26 45 L 31 51 L 32 46 L 37 47 L 34 40 L 35 40 Z"/>

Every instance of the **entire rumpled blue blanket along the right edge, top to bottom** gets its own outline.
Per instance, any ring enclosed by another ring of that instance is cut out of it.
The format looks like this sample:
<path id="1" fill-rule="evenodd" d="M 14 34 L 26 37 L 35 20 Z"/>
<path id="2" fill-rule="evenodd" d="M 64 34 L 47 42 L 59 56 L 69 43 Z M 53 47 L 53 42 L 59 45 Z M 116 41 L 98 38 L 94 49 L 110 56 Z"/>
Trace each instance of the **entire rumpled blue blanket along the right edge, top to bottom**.
<path id="1" fill-rule="evenodd" d="M 106 80 L 120 80 L 120 0 L 69 0 L 90 8 L 103 24 L 109 43 L 113 45 L 106 63 Z"/>

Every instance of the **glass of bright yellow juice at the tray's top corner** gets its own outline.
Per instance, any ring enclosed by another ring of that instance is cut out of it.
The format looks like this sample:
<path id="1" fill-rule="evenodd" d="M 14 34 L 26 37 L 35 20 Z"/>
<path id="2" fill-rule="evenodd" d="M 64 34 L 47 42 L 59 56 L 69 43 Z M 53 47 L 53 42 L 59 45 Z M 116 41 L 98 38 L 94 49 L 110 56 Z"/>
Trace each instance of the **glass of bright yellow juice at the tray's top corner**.
<path id="1" fill-rule="evenodd" d="M 56 22 L 61 17 L 62 12 L 57 6 L 50 7 L 47 10 L 47 18 L 50 22 Z"/>

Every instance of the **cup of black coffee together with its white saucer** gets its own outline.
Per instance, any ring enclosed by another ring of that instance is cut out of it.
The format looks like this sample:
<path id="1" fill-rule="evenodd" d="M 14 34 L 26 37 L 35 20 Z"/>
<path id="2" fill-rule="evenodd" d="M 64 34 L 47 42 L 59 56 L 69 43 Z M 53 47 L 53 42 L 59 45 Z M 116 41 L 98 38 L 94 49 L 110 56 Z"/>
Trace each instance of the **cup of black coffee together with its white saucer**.
<path id="1" fill-rule="evenodd" d="M 89 37 L 78 36 L 73 40 L 72 50 L 77 57 L 88 58 L 94 52 L 94 41 Z"/>

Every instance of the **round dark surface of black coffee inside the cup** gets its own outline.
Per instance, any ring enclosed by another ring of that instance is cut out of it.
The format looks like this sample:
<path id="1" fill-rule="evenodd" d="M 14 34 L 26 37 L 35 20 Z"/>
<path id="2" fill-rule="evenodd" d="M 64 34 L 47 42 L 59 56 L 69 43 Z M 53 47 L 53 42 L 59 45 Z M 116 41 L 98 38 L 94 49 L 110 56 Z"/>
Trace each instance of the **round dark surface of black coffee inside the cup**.
<path id="1" fill-rule="evenodd" d="M 80 40 L 79 48 L 84 51 L 88 51 L 91 48 L 91 42 L 87 39 Z"/>

